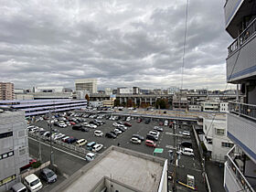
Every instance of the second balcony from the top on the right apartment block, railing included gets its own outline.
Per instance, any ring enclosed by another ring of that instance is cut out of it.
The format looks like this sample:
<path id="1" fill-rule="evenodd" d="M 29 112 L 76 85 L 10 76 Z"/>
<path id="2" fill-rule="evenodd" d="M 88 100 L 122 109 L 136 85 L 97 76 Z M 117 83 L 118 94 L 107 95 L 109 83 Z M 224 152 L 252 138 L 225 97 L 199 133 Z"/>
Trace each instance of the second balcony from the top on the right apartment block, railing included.
<path id="1" fill-rule="evenodd" d="M 239 82 L 256 77 L 256 19 L 229 46 L 227 81 Z"/>

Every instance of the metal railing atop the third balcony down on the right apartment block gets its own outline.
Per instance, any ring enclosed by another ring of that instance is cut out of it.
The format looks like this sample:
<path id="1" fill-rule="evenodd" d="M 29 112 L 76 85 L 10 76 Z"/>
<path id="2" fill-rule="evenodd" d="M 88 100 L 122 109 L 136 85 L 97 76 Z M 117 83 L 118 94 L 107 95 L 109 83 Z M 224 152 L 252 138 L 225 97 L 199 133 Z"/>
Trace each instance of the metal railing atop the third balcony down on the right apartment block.
<path id="1" fill-rule="evenodd" d="M 256 105 L 229 101 L 229 112 L 256 121 Z"/>

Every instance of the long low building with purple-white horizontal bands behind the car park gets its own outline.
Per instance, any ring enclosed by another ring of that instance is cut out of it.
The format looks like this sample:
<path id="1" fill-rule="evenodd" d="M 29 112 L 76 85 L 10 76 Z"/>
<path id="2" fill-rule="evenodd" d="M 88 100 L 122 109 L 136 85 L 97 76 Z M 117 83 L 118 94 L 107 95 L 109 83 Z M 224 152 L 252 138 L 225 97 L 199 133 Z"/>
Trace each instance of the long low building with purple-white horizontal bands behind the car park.
<path id="1" fill-rule="evenodd" d="M 65 112 L 87 106 L 87 100 L 10 100 L 0 101 L 0 107 L 11 107 L 25 112 L 26 116 L 46 114 L 48 112 Z"/>

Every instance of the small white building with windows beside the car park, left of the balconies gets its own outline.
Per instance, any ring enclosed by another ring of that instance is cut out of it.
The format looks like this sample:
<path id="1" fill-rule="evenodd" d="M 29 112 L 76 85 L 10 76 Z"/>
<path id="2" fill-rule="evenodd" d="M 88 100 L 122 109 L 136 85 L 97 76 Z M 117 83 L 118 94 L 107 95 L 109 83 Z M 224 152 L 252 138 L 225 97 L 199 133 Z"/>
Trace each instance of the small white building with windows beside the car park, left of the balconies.
<path id="1" fill-rule="evenodd" d="M 203 118 L 203 142 L 211 161 L 224 163 L 227 153 L 234 145 L 227 136 L 226 114 L 210 115 Z"/>

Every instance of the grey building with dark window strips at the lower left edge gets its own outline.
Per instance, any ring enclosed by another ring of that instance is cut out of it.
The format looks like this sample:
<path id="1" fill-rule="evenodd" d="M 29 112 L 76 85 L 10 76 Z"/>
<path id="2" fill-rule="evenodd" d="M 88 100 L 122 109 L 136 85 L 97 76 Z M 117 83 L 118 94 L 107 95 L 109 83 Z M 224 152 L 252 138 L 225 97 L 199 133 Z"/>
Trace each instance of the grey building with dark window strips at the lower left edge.
<path id="1" fill-rule="evenodd" d="M 28 164 L 25 112 L 0 108 L 0 191 L 20 180 L 20 168 Z"/>

